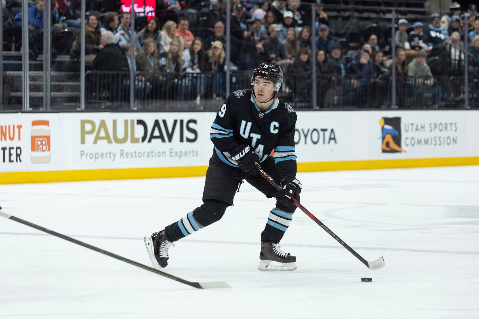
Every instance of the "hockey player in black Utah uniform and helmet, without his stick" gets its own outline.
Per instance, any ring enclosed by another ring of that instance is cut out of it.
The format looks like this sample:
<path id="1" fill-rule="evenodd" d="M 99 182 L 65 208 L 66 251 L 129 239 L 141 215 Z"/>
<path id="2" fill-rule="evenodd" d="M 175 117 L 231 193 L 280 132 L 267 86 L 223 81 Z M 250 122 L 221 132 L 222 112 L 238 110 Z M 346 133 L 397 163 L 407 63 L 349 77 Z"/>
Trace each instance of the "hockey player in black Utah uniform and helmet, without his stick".
<path id="1" fill-rule="evenodd" d="M 206 172 L 203 204 L 163 230 L 145 237 L 155 267 L 166 267 L 173 242 L 221 219 L 240 183 L 246 179 L 267 198 L 276 198 L 261 233 L 259 270 L 295 270 L 296 257 L 285 253 L 279 242 L 293 218 L 302 185 L 296 178 L 296 112 L 278 99 L 283 71 L 262 63 L 251 77 L 251 90 L 234 91 L 217 112 L 211 125 L 213 155 Z M 274 157 L 270 156 L 274 150 Z M 276 190 L 259 175 L 255 164 L 277 181 Z M 272 265 L 279 262 L 281 266 Z"/>

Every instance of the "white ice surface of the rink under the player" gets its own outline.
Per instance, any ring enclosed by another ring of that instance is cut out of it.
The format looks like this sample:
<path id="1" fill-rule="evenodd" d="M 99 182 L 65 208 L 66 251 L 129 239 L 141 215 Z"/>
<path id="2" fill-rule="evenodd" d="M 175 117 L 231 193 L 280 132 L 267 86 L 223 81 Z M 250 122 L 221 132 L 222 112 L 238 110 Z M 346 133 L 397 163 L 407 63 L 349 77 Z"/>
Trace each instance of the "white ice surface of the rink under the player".
<path id="1" fill-rule="evenodd" d="M 479 166 L 300 173 L 281 242 L 297 270 L 260 272 L 274 206 L 244 184 L 219 222 L 176 242 L 164 269 L 202 290 L 0 219 L 0 318 L 478 318 Z M 204 177 L 0 186 L 3 210 L 150 265 L 143 236 L 197 207 Z M 361 282 L 372 277 L 373 282 Z"/>

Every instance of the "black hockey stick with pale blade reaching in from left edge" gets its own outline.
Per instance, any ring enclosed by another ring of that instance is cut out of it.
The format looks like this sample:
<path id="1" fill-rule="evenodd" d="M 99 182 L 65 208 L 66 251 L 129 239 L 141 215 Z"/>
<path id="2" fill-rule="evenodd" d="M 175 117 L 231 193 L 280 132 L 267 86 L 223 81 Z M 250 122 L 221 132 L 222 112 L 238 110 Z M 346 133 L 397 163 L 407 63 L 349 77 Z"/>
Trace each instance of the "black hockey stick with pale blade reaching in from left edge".
<path id="1" fill-rule="evenodd" d="M 0 207 L 1 209 L 1 207 Z M 157 270 L 155 268 L 151 268 L 151 267 L 148 267 L 147 265 L 144 265 L 144 264 L 140 264 L 140 263 L 137 263 L 136 261 L 134 260 L 131 260 L 131 259 L 128 259 L 128 258 L 125 258 L 125 257 L 122 257 L 120 255 L 117 255 L 115 253 L 110 253 L 106 250 L 103 250 L 101 248 L 98 248 L 98 247 L 95 247 L 95 246 L 92 246 L 90 244 L 87 244 L 86 242 L 80 242 L 76 239 L 73 239 L 71 237 L 68 237 L 66 235 L 63 235 L 63 234 L 60 234 L 56 231 L 51 231 L 47 228 L 44 228 L 42 226 L 38 226 L 34 223 L 31 223 L 29 221 L 26 221 L 26 220 L 23 220 L 23 219 L 20 219 L 18 217 L 15 217 L 15 216 L 11 216 L 10 214 L 7 214 L 3 211 L 0 210 L 0 216 L 2 217 L 5 217 L 5 218 L 8 218 L 9 220 L 15 220 L 15 221 L 18 221 L 19 223 L 22 223 L 23 225 L 27 225 L 27 226 L 30 226 L 34 229 L 37 229 L 39 231 L 44 231 L 50 235 L 53 235 L 53 236 L 57 236 L 59 238 L 62 238 L 68 242 L 73 242 L 73 243 L 76 243 L 77 245 L 80 245 L 80 246 L 83 246 L 83 247 L 86 247 L 88 249 L 91 249 L 91 250 L 94 250 L 95 252 L 98 252 L 98 253 L 103 253 L 104 255 L 107 255 L 107 256 L 110 256 L 110 257 L 113 257 L 113 258 L 116 258 L 118 260 L 121 260 L 122 262 L 125 262 L 125 263 L 128 263 L 128 264 L 132 264 L 134 266 L 137 266 L 139 268 L 142 268 L 142 269 L 145 269 L 145 270 L 148 270 L 152 273 L 155 273 L 157 275 L 161 275 L 163 277 L 166 277 L 166 278 L 169 278 L 169 279 L 172 279 L 172 280 L 175 280 L 175 281 L 178 281 L 182 284 L 185 284 L 185 285 L 188 285 L 188 286 L 192 286 L 192 287 L 195 287 L 195 288 L 199 288 L 199 289 L 209 289 L 209 288 L 231 288 L 231 286 L 229 286 L 229 284 L 225 281 L 210 281 L 210 282 L 204 282 L 204 283 L 199 283 L 199 282 L 192 282 L 192 281 L 188 281 L 188 280 L 184 280 L 180 277 L 176 277 L 176 276 L 173 276 L 173 275 L 170 275 L 170 274 L 167 274 L 165 272 L 162 272 L 160 270 Z"/>

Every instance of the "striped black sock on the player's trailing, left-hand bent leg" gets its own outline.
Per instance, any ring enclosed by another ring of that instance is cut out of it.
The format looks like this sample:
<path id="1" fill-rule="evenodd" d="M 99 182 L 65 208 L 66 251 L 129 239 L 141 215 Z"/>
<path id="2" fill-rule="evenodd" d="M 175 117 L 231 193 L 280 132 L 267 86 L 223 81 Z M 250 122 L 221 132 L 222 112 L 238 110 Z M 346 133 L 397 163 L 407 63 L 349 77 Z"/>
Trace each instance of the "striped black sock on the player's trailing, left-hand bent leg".
<path id="1" fill-rule="evenodd" d="M 219 200 L 206 199 L 203 205 L 190 211 L 178 222 L 165 227 L 166 236 L 171 242 L 176 242 L 183 237 L 211 225 L 223 217 L 228 204 Z"/>

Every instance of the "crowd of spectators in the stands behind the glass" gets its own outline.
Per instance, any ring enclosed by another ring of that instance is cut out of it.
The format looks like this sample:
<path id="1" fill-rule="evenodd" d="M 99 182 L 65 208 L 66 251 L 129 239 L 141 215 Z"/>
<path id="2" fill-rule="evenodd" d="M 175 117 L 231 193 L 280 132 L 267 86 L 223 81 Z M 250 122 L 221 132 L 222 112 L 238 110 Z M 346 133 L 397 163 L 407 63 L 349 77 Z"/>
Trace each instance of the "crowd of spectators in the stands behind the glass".
<path id="1" fill-rule="evenodd" d="M 81 48 L 80 32 L 77 32 L 72 55 L 79 56 L 80 50 L 84 50 L 85 63 L 92 70 L 125 71 L 133 68 L 137 73 L 135 91 L 140 98 L 155 94 L 154 88 L 165 85 L 165 77 L 161 76 L 165 73 L 174 74 L 168 77 L 168 85 L 176 87 L 177 97 L 194 99 L 199 104 L 209 89 L 214 99 L 225 98 L 224 3 L 214 2 L 217 18 L 208 22 L 212 28 L 205 33 L 197 28 L 190 30 L 190 16 L 202 10 L 195 2 L 188 2 L 186 6 L 178 1 L 161 2 L 159 7 L 173 12 L 175 15 L 169 17 L 176 19 L 164 21 L 150 17 L 138 32 L 130 28 L 129 12 L 107 11 L 101 16 L 90 12 L 85 20 L 85 47 Z M 44 5 L 44 0 L 36 0 L 28 9 L 29 32 L 34 47 L 35 41 L 41 41 Z M 338 95 L 352 102 L 362 99 L 373 85 L 380 89 L 380 79 L 389 78 L 392 73 L 399 90 L 411 83 L 411 77 L 421 78 L 421 90 L 412 92 L 412 96 L 427 95 L 434 105 L 438 105 L 442 87 L 433 77 L 464 74 L 461 70 L 464 69 L 465 55 L 469 56 L 468 72 L 479 77 L 479 14 L 474 4 L 462 12 L 461 6 L 453 2 L 450 12 L 443 16 L 433 13 L 428 21 L 399 19 L 392 39 L 385 38 L 377 29 L 368 29 L 361 34 L 362 43 L 357 49 L 351 48 L 337 35 L 340 30 L 330 26 L 322 0 L 312 4 L 314 21 L 310 5 L 300 0 L 232 0 L 231 69 L 251 70 L 261 62 L 275 63 L 285 74 L 283 93 L 295 91 L 297 101 L 304 101 L 310 97 L 308 91 L 311 90 L 314 59 L 316 74 L 320 79 L 327 79 L 318 81 L 321 107 L 334 104 Z M 55 33 L 65 28 L 78 31 L 81 19 L 75 13 L 76 9 L 77 1 L 53 0 L 52 31 Z M 466 22 L 468 30 L 464 27 Z M 314 34 L 309 27 L 312 24 L 315 25 Z M 22 27 L 22 12 L 13 17 L 12 26 Z M 316 52 L 315 56 L 312 56 L 313 52 Z M 299 81 L 296 75 L 300 76 Z M 123 84 L 129 86 L 129 78 Z M 338 93 L 338 87 L 346 93 Z"/>

